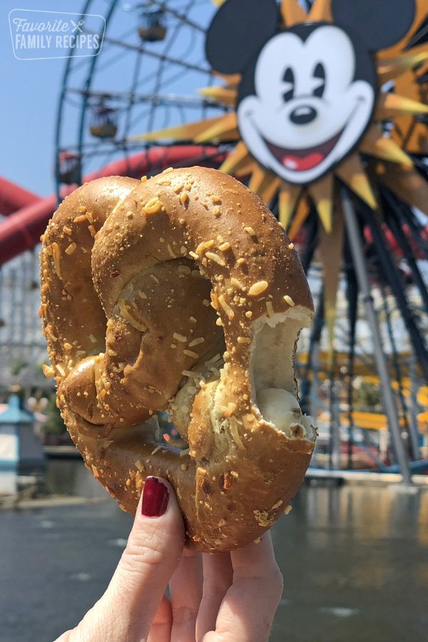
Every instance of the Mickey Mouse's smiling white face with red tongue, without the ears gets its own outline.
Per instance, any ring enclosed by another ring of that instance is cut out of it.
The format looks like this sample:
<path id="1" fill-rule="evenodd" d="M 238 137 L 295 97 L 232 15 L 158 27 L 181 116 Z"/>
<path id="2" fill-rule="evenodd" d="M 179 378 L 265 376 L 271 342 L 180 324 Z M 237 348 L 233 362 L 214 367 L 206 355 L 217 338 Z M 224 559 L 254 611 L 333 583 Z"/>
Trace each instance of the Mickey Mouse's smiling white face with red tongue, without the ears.
<path id="1" fill-rule="evenodd" d="M 355 79 L 350 36 L 332 24 L 309 31 L 290 29 L 265 44 L 250 72 L 255 94 L 238 106 L 250 152 L 291 183 L 320 178 L 349 153 L 375 99 L 372 79 Z"/>

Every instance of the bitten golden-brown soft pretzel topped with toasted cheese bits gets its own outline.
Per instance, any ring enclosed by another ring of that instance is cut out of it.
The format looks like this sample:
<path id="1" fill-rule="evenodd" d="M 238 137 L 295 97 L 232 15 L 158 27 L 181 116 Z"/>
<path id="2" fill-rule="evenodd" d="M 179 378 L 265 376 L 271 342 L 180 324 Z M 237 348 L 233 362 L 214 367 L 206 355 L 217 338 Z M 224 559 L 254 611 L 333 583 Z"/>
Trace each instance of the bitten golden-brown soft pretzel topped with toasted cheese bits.
<path id="1" fill-rule="evenodd" d="M 42 241 L 46 370 L 86 466 L 131 513 L 147 475 L 169 479 L 195 549 L 257 539 L 315 442 L 293 369 L 312 298 L 284 230 L 195 167 L 83 185 Z M 159 437 L 163 409 L 188 450 Z"/>

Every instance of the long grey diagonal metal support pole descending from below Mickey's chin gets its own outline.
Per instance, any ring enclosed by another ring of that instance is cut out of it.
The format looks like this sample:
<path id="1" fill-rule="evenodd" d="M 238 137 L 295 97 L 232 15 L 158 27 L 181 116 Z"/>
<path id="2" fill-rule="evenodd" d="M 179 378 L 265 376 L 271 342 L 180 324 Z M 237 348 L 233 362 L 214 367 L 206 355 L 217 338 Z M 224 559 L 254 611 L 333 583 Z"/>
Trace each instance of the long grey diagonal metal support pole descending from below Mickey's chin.
<path id="1" fill-rule="evenodd" d="M 380 335 L 379 324 L 377 321 L 376 310 L 374 309 L 373 299 L 370 292 L 370 282 L 367 273 L 367 265 L 365 262 L 364 248 L 360 230 L 357 223 L 357 215 L 355 214 L 354 205 L 350 199 L 347 189 L 342 185 L 342 206 L 343 215 L 345 218 L 345 228 L 347 230 L 347 238 L 350 243 L 350 250 L 354 259 L 355 273 L 357 275 L 358 285 L 362 295 L 362 301 L 365 305 L 365 312 L 367 322 L 372 330 L 372 342 L 374 348 L 374 361 L 379 374 L 380 386 L 382 392 L 382 402 L 384 412 L 387 415 L 389 431 L 392 439 L 392 447 L 394 449 L 397 463 L 403 477 L 404 484 L 412 484 L 412 476 L 409 469 L 409 459 L 407 457 L 406 449 L 402 441 L 401 429 L 399 427 L 398 408 L 397 402 L 392 391 L 391 381 L 389 379 L 389 369 L 387 360 L 382 350 L 382 337 Z"/>

